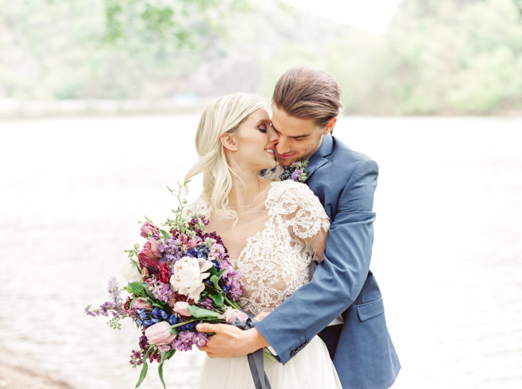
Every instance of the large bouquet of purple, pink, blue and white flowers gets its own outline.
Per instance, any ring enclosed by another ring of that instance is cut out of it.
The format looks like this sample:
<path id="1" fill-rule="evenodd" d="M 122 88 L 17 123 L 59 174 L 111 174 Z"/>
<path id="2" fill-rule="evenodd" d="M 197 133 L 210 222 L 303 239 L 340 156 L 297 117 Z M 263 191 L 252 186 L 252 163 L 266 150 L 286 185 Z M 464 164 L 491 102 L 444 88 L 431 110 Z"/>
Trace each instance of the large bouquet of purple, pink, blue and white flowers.
<path id="1" fill-rule="evenodd" d="M 178 184 L 179 185 L 179 184 Z M 207 334 L 195 329 L 199 322 L 233 323 L 247 315 L 235 303 L 242 291 L 239 276 L 228 262 L 227 249 L 215 232 L 208 233 L 205 215 L 182 216 L 186 201 L 180 200 L 182 185 L 176 194 L 180 206 L 175 217 L 159 228 L 152 221 L 141 226 L 141 237 L 147 242 L 138 244 L 128 253 L 129 263 L 124 271 L 129 280 L 128 292 L 122 299 L 115 278 L 109 280 L 109 301 L 99 308 L 85 308 L 91 316 L 111 314 L 109 325 L 119 329 L 123 318 L 130 318 L 140 330 L 139 348 L 132 350 L 130 363 L 142 365 L 138 387 L 147 374 L 147 360 L 159 363 L 158 373 L 163 380 L 163 362 L 172 358 L 176 350 L 192 350 L 204 346 Z"/>

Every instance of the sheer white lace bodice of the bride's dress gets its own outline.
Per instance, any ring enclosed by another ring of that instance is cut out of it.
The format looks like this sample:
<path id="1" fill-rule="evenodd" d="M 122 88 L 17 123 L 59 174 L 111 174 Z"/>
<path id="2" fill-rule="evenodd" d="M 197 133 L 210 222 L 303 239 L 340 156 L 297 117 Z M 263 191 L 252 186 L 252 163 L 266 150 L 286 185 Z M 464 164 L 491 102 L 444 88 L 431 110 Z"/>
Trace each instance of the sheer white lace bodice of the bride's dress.
<path id="1" fill-rule="evenodd" d="M 211 218 L 204 200 L 196 200 L 188 209 Z M 314 252 L 308 243 L 330 225 L 319 199 L 300 182 L 271 182 L 265 209 L 264 228 L 246 239 L 237 258 L 229 258 L 241 276 L 239 304 L 253 314 L 271 312 L 309 282 Z"/>

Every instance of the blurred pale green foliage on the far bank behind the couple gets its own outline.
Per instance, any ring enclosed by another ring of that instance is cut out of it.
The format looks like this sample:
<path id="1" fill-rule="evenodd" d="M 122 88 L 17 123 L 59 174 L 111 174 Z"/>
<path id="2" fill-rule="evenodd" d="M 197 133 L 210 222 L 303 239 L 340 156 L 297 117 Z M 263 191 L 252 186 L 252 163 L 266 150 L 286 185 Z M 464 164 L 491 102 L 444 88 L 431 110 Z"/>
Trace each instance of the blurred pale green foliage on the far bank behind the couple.
<path id="1" fill-rule="evenodd" d="M 0 0 L 0 99 L 270 98 L 294 65 L 345 112 L 522 111 L 522 0 L 403 0 L 384 35 L 278 0 Z"/>

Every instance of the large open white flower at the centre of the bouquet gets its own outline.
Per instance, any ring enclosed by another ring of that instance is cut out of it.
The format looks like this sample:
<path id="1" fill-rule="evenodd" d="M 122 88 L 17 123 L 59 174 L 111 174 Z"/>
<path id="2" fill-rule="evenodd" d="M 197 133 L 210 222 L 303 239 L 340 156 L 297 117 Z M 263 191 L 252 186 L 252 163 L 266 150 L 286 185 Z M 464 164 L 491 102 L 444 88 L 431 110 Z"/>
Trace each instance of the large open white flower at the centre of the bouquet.
<path id="1" fill-rule="evenodd" d="M 204 273 L 204 271 L 212 266 L 211 261 L 203 258 L 181 258 L 174 264 L 174 270 L 170 277 L 172 289 L 198 302 L 199 295 L 205 289 L 203 280 L 210 275 L 210 273 Z"/>

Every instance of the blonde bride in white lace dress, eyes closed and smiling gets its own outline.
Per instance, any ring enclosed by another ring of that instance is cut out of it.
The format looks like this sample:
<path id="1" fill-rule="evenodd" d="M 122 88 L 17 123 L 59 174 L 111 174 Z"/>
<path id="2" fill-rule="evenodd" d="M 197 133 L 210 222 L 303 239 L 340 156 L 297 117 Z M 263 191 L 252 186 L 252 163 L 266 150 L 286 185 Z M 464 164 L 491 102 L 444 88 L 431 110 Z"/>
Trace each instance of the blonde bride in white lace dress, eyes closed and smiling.
<path id="1" fill-rule="evenodd" d="M 262 100 L 247 94 L 223 96 L 201 116 L 199 162 L 185 178 L 203 174 L 203 192 L 188 212 L 207 215 L 206 229 L 221 236 L 241 276 L 239 304 L 256 319 L 310 280 L 313 261 L 322 260 L 329 228 L 321 203 L 305 184 L 278 181 L 274 172 L 259 174 L 276 166 L 275 144 L 277 133 Z M 318 336 L 288 363 L 266 357 L 264 363 L 274 389 L 341 387 Z M 254 388 L 246 356 L 206 357 L 199 387 Z"/>

